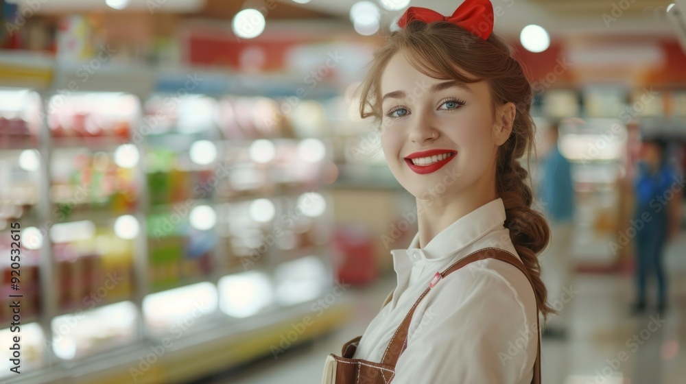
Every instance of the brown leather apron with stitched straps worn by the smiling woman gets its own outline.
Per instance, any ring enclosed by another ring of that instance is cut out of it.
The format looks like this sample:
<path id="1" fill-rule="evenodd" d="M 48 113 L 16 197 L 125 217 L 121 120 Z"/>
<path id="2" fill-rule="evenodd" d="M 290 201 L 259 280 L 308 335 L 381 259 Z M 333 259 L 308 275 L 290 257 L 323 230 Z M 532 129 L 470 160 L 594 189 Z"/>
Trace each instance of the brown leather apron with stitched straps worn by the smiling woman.
<path id="1" fill-rule="evenodd" d="M 469 254 L 461 259 L 460 261 L 454 263 L 445 271 L 440 273 L 440 278 L 445 278 L 452 272 L 464 267 L 465 265 L 472 263 L 474 261 L 483 259 L 498 259 L 514 265 L 519 268 L 519 270 L 527 277 L 529 283 L 531 279 L 529 274 L 526 272 L 526 267 L 523 265 L 516 256 L 507 252 L 505 250 L 500 250 L 497 248 L 484 248 L 482 250 L 477 250 L 472 254 Z M 437 274 L 434 280 L 431 280 L 431 285 L 434 286 L 440 278 Z M 362 336 L 355 337 L 351 341 L 348 341 L 342 348 L 341 356 L 334 355 L 333 353 L 327 357 L 326 365 L 324 366 L 324 377 L 322 378 L 322 384 L 389 384 L 395 376 L 395 364 L 397 363 L 401 353 L 405 350 L 407 346 L 407 331 L 410 329 L 410 321 L 412 320 L 412 315 L 414 310 L 421 300 L 429 293 L 431 287 L 427 288 L 418 300 L 407 313 L 405 319 L 398 327 L 393 337 L 390 339 L 388 348 L 386 352 L 383 353 L 381 358 L 381 363 L 372 363 L 371 361 L 366 361 L 362 359 L 353 359 L 355 350 L 359 345 L 359 340 Z M 392 296 L 388 296 L 386 304 L 390 302 Z M 539 333 L 538 337 L 538 350 L 536 351 L 536 362 L 534 363 L 534 378 L 532 379 L 532 384 L 541 383 L 541 334 L 539 328 L 539 311 L 536 307 L 536 330 Z M 495 359 L 495 357 L 493 357 Z"/>

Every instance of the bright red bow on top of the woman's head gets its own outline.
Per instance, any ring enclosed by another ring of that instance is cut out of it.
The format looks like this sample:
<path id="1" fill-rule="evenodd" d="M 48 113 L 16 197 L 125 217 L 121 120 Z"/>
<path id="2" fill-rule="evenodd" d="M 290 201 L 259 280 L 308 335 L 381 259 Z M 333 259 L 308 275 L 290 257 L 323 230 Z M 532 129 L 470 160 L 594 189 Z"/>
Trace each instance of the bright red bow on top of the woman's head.
<path id="1" fill-rule="evenodd" d="M 493 32 L 493 4 L 490 0 L 466 0 L 452 16 L 443 16 L 429 8 L 410 7 L 401 16 L 398 26 L 404 28 L 407 23 L 414 20 L 424 23 L 448 21 L 486 40 Z"/>

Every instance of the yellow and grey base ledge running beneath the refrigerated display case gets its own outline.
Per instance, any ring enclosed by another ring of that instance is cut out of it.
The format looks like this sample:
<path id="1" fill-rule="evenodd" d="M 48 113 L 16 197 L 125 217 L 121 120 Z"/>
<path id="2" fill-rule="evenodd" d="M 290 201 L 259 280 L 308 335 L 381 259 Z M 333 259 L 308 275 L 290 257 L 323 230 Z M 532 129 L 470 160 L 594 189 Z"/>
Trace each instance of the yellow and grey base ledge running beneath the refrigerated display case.
<path id="1" fill-rule="evenodd" d="M 281 336 L 293 331 L 292 324 L 303 322 L 305 316 L 313 320 L 293 345 L 314 339 L 344 324 L 351 317 L 351 303 L 340 299 L 318 315 L 311 304 L 305 303 L 270 317 L 226 320 L 205 326 L 203 330 L 185 333 L 171 339 L 171 348 L 150 364 L 136 383 L 187 383 L 211 374 L 228 370 L 261 356 L 270 355 L 272 346 L 279 346 Z M 121 384 L 134 381 L 131 369 L 138 368 L 151 348 L 159 348 L 163 339 L 102 352 L 72 363 L 61 363 L 52 369 L 25 372 L 21 378 L 6 380 L 5 384 Z"/>

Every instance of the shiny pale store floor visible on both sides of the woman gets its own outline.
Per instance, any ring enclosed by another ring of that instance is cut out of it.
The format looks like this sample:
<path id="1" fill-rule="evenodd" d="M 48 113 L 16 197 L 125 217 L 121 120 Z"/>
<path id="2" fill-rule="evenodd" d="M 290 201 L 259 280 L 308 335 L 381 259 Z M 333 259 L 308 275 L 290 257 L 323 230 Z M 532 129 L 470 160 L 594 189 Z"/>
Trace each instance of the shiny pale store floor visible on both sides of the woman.
<path id="1" fill-rule="evenodd" d="M 686 234 L 667 249 L 671 307 L 664 316 L 628 315 L 630 276 L 578 274 L 579 293 L 569 302 L 566 341 L 543 340 L 543 383 L 683 384 L 686 382 Z M 204 384 L 320 383 L 324 358 L 340 352 L 344 341 L 361 335 L 394 287 L 392 276 L 373 285 L 348 289 L 354 303 L 351 322 L 331 335 L 268 357 Z M 654 297 L 654 296 L 652 296 Z"/>

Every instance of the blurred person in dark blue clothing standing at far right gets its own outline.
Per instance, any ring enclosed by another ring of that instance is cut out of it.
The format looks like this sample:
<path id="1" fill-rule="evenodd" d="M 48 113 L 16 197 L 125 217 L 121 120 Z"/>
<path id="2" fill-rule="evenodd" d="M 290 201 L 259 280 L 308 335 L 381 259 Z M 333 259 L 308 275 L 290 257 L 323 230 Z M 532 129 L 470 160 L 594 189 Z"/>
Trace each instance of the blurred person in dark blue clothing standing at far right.
<path id="1" fill-rule="evenodd" d="M 682 180 L 667 161 L 667 142 L 657 138 L 643 140 L 634 180 L 633 222 L 643 225 L 635 225 L 637 292 L 632 313 L 646 309 L 646 280 L 653 273 L 657 277 L 657 309 L 663 312 L 667 307 L 663 251 L 665 243 L 673 239 L 681 227 Z"/>

